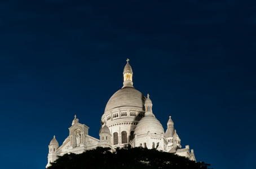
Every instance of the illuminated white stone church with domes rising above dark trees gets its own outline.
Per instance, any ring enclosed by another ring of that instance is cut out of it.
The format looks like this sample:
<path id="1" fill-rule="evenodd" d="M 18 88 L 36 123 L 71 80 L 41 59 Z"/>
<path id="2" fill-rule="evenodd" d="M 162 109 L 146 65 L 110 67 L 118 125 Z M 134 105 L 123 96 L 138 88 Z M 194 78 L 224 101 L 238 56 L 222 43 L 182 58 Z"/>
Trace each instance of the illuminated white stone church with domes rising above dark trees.
<path id="1" fill-rule="evenodd" d="M 162 124 L 152 112 L 149 95 L 146 98 L 133 87 L 133 70 L 129 59 L 123 70 L 123 87 L 108 100 L 101 117 L 101 125 L 100 139 L 96 139 L 88 135 L 89 127 L 79 123 L 75 115 L 69 128 L 69 136 L 63 144 L 59 146 L 55 136 L 51 140 L 46 167 L 50 166 L 50 162 L 54 162 L 57 156 L 65 153 L 80 154 L 97 146 L 114 149 L 126 144 L 175 153 L 196 161 L 193 149 L 190 152 L 188 145 L 182 149 L 171 117 L 167 122 L 167 130 L 164 131 Z"/>

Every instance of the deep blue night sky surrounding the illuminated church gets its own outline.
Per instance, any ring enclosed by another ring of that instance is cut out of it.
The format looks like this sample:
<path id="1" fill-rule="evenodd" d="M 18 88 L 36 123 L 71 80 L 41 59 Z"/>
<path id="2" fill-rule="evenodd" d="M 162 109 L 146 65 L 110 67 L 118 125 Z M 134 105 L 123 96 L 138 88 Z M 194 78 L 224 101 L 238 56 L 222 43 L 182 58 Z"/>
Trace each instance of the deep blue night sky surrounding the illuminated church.
<path id="1" fill-rule="evenodd" d="M 0 168 L 45 168 L 75 114 L 99 138 L 127 58 L 198 162 L 254 168 L 255 34 L 254 1 L 0 1 Z"/>

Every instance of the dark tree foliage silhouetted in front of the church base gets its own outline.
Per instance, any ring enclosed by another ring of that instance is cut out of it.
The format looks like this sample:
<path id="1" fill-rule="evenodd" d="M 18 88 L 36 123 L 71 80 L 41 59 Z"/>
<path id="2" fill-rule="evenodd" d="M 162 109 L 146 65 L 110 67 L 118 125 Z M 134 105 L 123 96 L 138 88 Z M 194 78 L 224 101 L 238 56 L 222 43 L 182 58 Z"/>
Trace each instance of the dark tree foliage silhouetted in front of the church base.
<path id="1" fill-rule="evenodd" d="M 109 148 L 98 147 L 82 154 L 65 154 L 59 157 L 48 169 L 89 169 L 89 168 L 173 168 L 209 169 L 210 164 L 190 161 L 175 154 L 159 152 L 147 148 Z"/>

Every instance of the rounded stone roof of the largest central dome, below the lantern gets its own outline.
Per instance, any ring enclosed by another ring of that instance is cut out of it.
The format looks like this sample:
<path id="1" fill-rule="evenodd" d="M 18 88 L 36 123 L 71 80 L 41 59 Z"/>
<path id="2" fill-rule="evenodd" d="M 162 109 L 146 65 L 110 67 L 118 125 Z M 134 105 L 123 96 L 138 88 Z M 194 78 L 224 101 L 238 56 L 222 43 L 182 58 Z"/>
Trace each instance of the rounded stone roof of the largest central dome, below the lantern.
<path id="1" fill-rule="evenodd" d="M 143 109 L 145 100 L 145 96 L 134 87 L 123 87 L 114 93 L 113 96 L 108 100 L 105 112 L 108 112 L 108 110 L 114 108 L 121 108 L 123 106 Z"/>

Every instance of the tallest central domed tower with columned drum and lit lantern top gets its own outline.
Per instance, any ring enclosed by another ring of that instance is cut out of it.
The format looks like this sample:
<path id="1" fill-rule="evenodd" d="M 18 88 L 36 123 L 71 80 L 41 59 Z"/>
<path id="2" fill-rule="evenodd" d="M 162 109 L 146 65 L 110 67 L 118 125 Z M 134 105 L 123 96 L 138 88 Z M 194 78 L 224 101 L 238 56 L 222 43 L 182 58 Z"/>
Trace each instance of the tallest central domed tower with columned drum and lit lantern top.
<path id="1" fill-rule="evenodd" d="M 145 113 L 145 96 L 133 86 L 133 69 L 129 59 L 123 69 L 123 86 L 112 95 L 101 117 L 101 125 L 111 132 L 113 146 L 124 146 L 134 139 L 134 130 Z"/>

